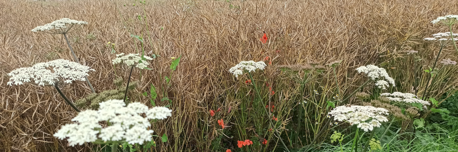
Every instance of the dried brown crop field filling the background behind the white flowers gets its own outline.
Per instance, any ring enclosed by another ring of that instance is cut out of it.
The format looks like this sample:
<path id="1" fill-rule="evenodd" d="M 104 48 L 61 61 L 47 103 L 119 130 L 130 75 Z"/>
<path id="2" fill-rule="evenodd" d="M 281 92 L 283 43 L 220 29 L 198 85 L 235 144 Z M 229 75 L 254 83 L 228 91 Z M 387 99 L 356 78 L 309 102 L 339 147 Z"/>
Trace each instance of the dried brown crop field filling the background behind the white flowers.
<path id="1" fill-rule="evenodd" d="M 169 141 L 153 138 L 157 146 L 150 151 L 210 152 L 217 151 L 211 145 L 221 134 L 208 111 L 235 111 L 244 97 L 254 96 L 245 85 L 249 79 L 246 75 L 236 79 L 228 72 L 240 61 L 270 57 L 271 64 L 257 78 L 276 88 L 270 100 L 273 104 L 286 102 L 285 94 L 292 95 L 297 88 L 280 84 L 282 78 L 275 66 L 282 64 L 343 60 L 337 69 L 338 84 L 344 86 L 341 94 L 349 94 L 365 81 L 355 68 L 388 62 L 388 73 L 400 82 L 398 91 L 409 92 L 414 68 L 405 52 L 422 52 L 423 65 L 431 65 L 437 49 L 429 49 L 432 45 L 422 39 L 447 30 L 430 21 L 448 14 L 458 14 L 457 0 L 147 0 L 145 4 L 135 0 L 0 0 L 0 151 L 91 152 L 97 147 L 91 143 L 69 147 L 65 140 L 53 136 L 77 114 L 56 89 L 6 85 L 10 78 L 7 73 L 16 68 L 58 58 L 73 61 L 64 37 L 30 31 L 60 18 L 89 23 L 68 36 L 81 63 L 96 70 L 88 76 L 96 92 L 113 89 L 116 76 L 126 79 L 129 75 L 130 69 L 125 67 L 115 67 L 114 73 L 111 60 L 115 56 L 107 42 L 115 43 L 116 53 L 136 53 L 142 46 L 131 34 L 139 35 L 144 39 L 145 53 L 159 55 L 151 61 L 152 70 L 132 73 L 132 79 L 139 83 L 129 96 L 144 104 L 149 104 L 150 98 L 141 94 L 149 92 L 150 84 L 164 84 L 164 76 L 171 74 L 171 57 L 181 55 L 167 91 L 156 87 L 156 105 L 169 104 L 160 100 L 167 94 L 173 113 L 154 123 L 153 135 L 166 133 Z M 137 15 L 146 18 L 139 20 Z M 264 31 L 268 37 L 265 44 L 260 41 Z M 453 47 L 443 53 L 458 59 Z M 457 68 L 449 70 L 452 74 L 447 78 L 453 83 L 433 90 L 434 96 L 456 89 Z M 314 83 L 315 88 L 326 85 L 329 89 L 336 84 L 332 77 Z M 84 81 L 61 89 L 73 101 L 91 93 Z M 236 94 L 241 90 L 245 92 L 240 97 Z M 307 87 L 306 92 L 312 91 L 313 87 Z M 225 117 L 229 121 L 236 115 L 235 111 Z M 203 121 L 210 123 L 202 127 L 199 124 Z M 290 122 L 283 120 L 284 125 Z M 228 122 L 232 127 L 236 124 Z M 256 134 L 249 128 L 247 132 Z M 313 135 L 308 132 L 301 145 L 308 145 Z M 231 136 L 239 135 L 224 136 L 227 139 L 221 142 L 236 147 Z"/>

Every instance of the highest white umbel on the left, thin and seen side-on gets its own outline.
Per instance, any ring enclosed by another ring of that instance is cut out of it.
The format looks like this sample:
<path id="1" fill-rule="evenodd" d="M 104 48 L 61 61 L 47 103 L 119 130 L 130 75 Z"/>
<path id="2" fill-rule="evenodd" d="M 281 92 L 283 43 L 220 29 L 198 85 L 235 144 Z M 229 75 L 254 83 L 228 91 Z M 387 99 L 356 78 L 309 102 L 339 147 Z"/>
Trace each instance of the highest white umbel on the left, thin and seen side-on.
<path id="1" fill-rule="evenodd" d="M 44 26 L 37 26 L 31 31 L 50 31 L 49 33 L 64 34 L 68 33 L 73 26 L 87 24 L 85 21 L 76 21 L 68 18 L 62 18 L 60 20 L 53 21 L 45 24 Z"/>

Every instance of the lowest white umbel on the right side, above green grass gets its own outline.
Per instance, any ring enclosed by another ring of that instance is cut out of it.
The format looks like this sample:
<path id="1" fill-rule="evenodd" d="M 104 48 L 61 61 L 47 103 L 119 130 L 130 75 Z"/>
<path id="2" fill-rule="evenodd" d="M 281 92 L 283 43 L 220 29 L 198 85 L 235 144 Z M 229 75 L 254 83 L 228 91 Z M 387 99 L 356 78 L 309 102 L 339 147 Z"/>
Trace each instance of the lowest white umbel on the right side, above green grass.
<path id="1" fill-rule="evenodd" d="M 329 112 L 337 121 L 347 121 L 350 125 L 358 125 L 357 127 L 364 131 L 372 131 L 374 127 L 380 127 L 381 122 L 387 122 L 388 110 L 384 108 L 376 108 L 373 106 L 352 105 L 338 106 Z"/>

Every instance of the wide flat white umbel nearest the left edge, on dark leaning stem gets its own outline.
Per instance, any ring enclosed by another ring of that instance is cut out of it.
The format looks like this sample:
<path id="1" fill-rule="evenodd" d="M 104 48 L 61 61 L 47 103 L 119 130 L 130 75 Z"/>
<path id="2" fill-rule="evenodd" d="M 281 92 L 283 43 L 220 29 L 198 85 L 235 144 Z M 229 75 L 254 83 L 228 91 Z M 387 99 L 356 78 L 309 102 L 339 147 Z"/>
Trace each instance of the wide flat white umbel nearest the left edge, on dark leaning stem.
<path id="1" fill-rule="evenodd" d="M 17 68 L 10 73 L 8 85 L 21 85 L 27 82 L 35 84 L 55 85 L 71 84 L 73 81 L 85 81 L 84 77 L 90 71 L 95 71 L 91 67 L 71 62 L 65 59 L 57 59 L 44 63 L 37 63 L 28 68 Z"/>

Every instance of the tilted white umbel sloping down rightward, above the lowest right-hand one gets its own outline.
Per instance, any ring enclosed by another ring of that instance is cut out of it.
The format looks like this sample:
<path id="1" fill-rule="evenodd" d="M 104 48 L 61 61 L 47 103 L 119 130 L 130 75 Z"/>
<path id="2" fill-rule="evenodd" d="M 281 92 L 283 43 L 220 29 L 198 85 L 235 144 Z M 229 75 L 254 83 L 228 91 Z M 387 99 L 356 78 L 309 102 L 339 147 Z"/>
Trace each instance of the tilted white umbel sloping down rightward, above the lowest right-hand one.
<path id="1" fill-rule="evenodd" d="M 378 86 L 378 88 L 386 89 L 386 87 L 389 87 L 389 84 L 395 86 L 394 79 L 388 75 L 387 70 L 385 70 L 384 68 L 378 68 L 375 65 L 366 65 L 356 68 L 356 70 L 358 71 L 358 73 L 367 74 L 367 76 L 370 77 L 372 80 L 384 78 L 386 81 L 383 79 L 377 80 L 376 86 Z"/>

